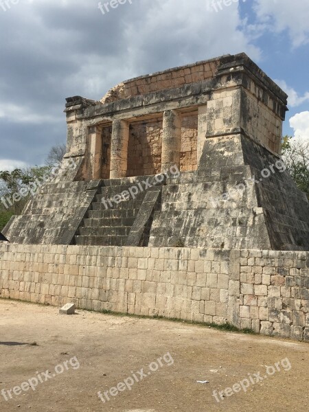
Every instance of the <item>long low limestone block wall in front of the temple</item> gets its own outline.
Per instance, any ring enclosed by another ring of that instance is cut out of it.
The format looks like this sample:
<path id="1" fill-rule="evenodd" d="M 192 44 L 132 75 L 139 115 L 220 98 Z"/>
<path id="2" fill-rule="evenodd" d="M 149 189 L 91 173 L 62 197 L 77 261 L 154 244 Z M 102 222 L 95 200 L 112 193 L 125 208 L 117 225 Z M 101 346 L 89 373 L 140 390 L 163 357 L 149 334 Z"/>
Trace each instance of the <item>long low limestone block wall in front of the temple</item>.
<path id="1" fill-rule="evenodd" d="M 309 341 L 309 252 L 2 244 L 0 296 Z"/>

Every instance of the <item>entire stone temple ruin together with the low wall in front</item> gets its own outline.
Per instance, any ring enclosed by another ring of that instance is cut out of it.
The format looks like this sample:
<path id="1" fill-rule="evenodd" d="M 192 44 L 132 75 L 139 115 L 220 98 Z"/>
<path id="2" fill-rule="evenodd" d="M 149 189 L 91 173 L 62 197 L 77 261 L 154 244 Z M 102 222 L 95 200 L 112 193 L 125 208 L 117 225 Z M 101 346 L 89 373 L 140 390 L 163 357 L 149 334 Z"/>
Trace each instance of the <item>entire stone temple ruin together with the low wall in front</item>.
<path id="1" fill-rule="evenodd" d="M 3 231 L 0 297 L 309 341 L 286 104 L 245 54 L 68 98 L 61 168 Z"/>

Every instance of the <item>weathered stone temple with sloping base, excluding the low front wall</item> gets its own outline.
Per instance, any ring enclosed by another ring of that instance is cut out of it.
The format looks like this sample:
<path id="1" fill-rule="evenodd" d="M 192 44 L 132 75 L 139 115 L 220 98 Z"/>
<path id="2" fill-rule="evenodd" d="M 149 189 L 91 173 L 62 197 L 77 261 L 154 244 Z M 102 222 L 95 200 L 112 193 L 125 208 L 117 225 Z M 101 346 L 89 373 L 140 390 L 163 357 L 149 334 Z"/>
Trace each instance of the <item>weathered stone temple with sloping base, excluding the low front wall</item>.
<path id="1" fill-rule="evenodd" d="M 245 54 L 127 80 L 101 102 L 68 98 L 64 172 L 3 233 L 23 244 L 309 250 L 307 198 L 279 161 L 286 104 Z M 173 166 L 180 175 L 141 190 Z"/>

